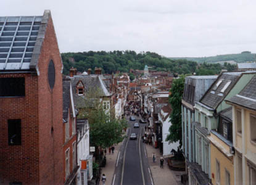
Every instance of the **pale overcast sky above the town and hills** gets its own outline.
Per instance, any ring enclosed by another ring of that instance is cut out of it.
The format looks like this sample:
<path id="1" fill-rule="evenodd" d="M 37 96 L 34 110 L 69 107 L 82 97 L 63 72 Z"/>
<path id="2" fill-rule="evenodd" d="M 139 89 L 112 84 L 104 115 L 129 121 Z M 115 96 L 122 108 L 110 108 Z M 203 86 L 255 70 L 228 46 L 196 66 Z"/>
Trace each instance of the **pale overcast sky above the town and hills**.
<path id="1" fill-rule="evenodd" d="M 1 0 L 0 16 L 51 10 L 60 52 L 204 57 L 256 49 L 256 1 Z"/>

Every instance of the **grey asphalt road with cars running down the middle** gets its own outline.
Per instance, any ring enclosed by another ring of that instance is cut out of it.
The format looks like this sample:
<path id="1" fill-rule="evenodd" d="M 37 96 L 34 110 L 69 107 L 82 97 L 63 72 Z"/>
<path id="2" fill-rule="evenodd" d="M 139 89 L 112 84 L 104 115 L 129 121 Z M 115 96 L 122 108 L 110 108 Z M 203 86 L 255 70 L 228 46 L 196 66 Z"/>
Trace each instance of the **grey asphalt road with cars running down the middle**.
<path id="1" fill-rule="evenodd" d="M 136 121 L 128 120 L 130 127 L 127 131 L 127 137 L 120 147 L 113 185 L 154 185 L 146 149 L 141 139 L 144 134 L 144 126 L 147 123 L 139 123 L 139 117 L 135 118 Z M 139 128 L 133 128 L 134 123 L 139 123 Z M 131 133 L 136 133 L 136 140 L 130 139 Z"/>

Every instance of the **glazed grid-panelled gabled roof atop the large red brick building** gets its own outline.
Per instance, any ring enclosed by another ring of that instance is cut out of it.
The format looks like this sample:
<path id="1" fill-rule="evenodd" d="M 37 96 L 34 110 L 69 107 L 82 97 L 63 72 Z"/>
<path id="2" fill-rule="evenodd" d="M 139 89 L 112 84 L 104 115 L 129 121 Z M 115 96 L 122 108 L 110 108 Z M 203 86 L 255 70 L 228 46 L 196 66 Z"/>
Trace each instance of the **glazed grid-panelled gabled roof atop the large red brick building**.
<path id="1" fill-rule="evenodd" d="M 49 17 L 0 17 L 0 71 L 37 68 Z"/>

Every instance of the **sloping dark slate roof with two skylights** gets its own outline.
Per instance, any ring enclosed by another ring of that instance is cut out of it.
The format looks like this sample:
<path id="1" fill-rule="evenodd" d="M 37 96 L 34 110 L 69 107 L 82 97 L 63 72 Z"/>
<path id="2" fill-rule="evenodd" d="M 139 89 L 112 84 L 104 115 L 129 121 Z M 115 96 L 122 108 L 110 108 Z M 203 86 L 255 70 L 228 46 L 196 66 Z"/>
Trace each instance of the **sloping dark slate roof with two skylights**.
<path id="1" fill-rule="evenodd" d="M 207 105 L 212 109 L 217 109 L 218 105 L 225 99 L 228 92 L 233 88 L 236 82 L 241 77 L 242 72 L 224 72 L 218 76 L 217 80 L 205 92 L 204 96 L 200 99 L 200 103 Z M 221 83 L 220 83 L 221 82 Z M 220 83 L 218 86 L 217 84 Z M 226 84 L 230 83 L 224 92 L 221 90 Z"/>

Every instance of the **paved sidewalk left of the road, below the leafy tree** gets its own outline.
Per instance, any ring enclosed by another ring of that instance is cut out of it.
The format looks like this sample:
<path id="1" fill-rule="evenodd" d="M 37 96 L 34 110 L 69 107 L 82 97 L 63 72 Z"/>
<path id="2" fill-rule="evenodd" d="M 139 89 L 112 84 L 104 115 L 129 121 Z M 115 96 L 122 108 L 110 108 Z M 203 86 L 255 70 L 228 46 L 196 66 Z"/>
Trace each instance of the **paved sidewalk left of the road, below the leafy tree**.
<path id="1" fill-rule="evenodd" d="M 112 179 L 115 172 L 115 165 L 117 162 L 117 155 L 118 155 L 121 144 L 122 142 L 118 143 L 117 146 L 114 146 L 115 147 L 114 154 L 112 154 L 112 151 L 109 154 L 109 149 L 107 149 L 107 155 L 106 155 L 107 163 L 104 168 L 101 168 L 102 169 L 101 175 L 104 173 L 105 176 L 107 177 L 107 181 L 105 182 L 105 185 L 112 185 Z M 99 183 L 99 185 L 102 185 L 102 181 Z"/>

